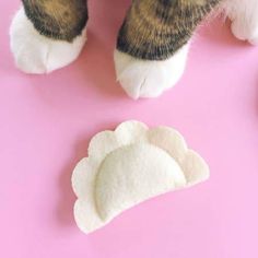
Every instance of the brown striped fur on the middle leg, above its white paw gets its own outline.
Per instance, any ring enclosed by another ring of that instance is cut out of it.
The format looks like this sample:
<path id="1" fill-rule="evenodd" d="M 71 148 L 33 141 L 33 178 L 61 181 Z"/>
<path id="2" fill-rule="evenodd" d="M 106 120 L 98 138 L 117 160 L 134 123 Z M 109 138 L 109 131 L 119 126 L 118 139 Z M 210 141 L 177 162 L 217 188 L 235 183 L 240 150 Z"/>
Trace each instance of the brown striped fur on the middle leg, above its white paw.
<path id="1" fill-rule="evenodd" d="M 219 0 L 133 0 L 117 48 L 133 57 L 163 60 L 191 37 Z"/>

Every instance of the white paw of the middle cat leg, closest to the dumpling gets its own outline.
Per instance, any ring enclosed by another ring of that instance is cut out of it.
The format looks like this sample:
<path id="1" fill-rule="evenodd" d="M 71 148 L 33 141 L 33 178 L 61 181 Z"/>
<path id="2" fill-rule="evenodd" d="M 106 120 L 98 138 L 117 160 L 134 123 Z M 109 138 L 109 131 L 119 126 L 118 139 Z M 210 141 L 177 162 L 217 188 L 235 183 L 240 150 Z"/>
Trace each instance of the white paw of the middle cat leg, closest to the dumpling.
<path id="1" fill-rule="evenodd" d="M 188 48 L 189 44 L 164 61 L 140 60 L 115 50 L 117 80 L 126 93 L 134 99 L 157 97 L 165 90 L 174 86 L 181 78 Z"/>

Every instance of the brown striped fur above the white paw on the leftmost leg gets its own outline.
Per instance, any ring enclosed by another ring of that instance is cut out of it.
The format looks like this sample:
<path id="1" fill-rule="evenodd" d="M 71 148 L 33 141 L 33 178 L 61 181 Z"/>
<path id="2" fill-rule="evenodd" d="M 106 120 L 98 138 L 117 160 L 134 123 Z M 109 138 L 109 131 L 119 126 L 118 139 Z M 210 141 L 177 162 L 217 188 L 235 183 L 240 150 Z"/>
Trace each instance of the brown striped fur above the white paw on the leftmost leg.
<path id="1" fill-rule="evenodd" d="M 43 35 L 71 42 L 87 22 L 86 0 L 23 0 L 35 28 Z"/>

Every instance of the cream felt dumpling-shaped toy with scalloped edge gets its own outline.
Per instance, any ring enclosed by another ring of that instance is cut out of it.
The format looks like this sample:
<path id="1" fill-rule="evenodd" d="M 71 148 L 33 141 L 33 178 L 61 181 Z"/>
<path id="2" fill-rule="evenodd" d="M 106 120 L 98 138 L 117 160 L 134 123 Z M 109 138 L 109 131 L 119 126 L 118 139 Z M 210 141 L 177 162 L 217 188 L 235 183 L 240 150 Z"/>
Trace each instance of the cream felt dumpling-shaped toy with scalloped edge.
<path id="1" fill-rule="evenodd" d="M 179 132 L 126 121 L 115 131 L 97 133 L 89 156 L 75 166 L 75 222 L 91 233 L 144 200 L 208 177 L 208 165 L 187 148 Z"/>

